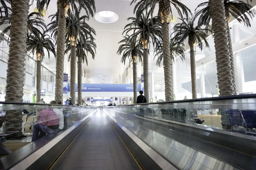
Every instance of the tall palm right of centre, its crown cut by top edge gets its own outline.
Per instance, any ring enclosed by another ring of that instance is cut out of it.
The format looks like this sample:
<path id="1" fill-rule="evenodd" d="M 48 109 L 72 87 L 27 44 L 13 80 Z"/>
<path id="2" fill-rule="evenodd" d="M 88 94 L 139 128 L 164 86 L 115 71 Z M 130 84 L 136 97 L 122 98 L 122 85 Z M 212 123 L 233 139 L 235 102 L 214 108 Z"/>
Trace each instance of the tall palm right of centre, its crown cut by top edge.
<path id="1" fill-rule="evenodd" d="M 165 80 L 165 95 L 166 101 L 173 100 L 172 98 L 172 87 L 171 87 L 171 59 L 170 59 L 170 49 L 169 49 L 169 22 L 172 19 L 170 14 L 175 8 L 178 14 L 181 16 L 185 14 L 188 16 L 189 8 L 180 3 L 180 0 L 133 0 L 132 3 L 137 3 L 134 8 L 134 13 L 136 13 L 136 18 L 139 19 L 144 11 L 149 8 L 149 13 L 151 17 L 154 13 L 154 9 L 159 4 L 158 16 L 162 20 L 162 34 L 163 34 L 163 65 L 164 65 L 164 80 Z"/>

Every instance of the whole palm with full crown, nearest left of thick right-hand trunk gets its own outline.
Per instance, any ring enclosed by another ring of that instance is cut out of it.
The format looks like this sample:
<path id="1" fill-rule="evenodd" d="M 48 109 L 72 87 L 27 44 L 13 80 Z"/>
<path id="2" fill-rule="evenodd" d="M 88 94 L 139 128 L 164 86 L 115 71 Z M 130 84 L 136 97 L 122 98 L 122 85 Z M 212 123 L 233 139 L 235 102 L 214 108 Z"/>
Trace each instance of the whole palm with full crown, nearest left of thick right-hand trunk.
<path id="1" fill-rule="evenodd" d="M 177 23 L 173 30 L 176 33 L 174 39 L 178 42 L 178 45 L 184 43 L 184 41 L 189 39 L 190 47 L 190 66 L 191 66 L 191 82 L 192 82 L 192 98 L 197 98 L 196 92 L 196 68 L 195 68 L 195 45 L 198 43 L 198 46 L 203 50 L 203 42 L 205 46 L 209 48 L 207 42 L 206 31 L 209 31 L 208 28 L 201 28 L 201 25 L 195 26 L 195 17 L 192 18 L 182 18 L 181 23 Z"/>

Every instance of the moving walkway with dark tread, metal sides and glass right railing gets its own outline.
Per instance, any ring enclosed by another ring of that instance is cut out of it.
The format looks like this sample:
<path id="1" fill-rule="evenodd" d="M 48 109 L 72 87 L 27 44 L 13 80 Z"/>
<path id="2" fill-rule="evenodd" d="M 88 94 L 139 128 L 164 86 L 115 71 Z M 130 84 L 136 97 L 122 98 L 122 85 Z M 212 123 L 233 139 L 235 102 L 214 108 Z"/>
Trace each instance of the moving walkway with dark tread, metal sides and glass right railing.
<path id="1" fill-rule="evenodd" d="M 256 95 L 105 108 L 0 108 L 63 108 L 70 115 L 67 130 L 2 157 L 0 170 L 255 170 Z"/>

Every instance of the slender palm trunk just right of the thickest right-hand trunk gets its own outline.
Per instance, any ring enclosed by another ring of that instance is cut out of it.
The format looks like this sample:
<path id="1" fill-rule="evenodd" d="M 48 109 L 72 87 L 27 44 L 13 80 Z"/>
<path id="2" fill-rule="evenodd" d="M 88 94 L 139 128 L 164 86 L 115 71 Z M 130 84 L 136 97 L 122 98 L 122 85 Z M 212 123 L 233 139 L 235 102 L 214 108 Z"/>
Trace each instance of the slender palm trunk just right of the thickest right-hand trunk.
<path id="1" fill-rule="evenodd" d="M 234 57 L 233 57 L 233 46 L 232 46 L 232 40 L 230 35 L 230 14 L 229 14 L 229 7 L 225 7 L 225 14 L 226 14 L 226 22 L 227 22 L 227 38 L 228 38 L 228 46 L 229 46 L 229 52 L 230 52 L 230 66 L 231 66 L 231 74 L 232 74 L 232 82 L 233 82 L 233 89 L 234 94 L 237 94 L 236 89 L 236 71 L 235 71 L 235 63 L 234 63 Z"/>

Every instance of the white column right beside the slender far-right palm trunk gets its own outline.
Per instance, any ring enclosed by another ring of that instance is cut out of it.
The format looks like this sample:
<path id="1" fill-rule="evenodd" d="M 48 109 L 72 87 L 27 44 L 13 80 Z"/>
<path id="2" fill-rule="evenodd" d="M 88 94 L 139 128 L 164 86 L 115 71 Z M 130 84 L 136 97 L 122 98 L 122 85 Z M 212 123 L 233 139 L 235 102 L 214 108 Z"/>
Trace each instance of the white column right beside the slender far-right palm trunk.
<path id="1" fill-rule="evenodd" d="M 239 42 L 240 41 L 240 32 L 239 32 L 239 25 L 233 26 L 233 32 L 234 32 L 234 41 Z M 245 82 L 244 82 L 244 64 L 243 59 L 241 56 L 241 52 L 237 52 L 235 55 L 235 61 L 236 61 L 236 85 L 238 89 L 238 93 L 244 93 L 245 92 Z"/>

